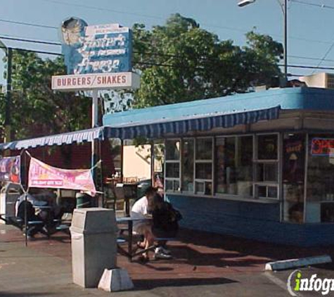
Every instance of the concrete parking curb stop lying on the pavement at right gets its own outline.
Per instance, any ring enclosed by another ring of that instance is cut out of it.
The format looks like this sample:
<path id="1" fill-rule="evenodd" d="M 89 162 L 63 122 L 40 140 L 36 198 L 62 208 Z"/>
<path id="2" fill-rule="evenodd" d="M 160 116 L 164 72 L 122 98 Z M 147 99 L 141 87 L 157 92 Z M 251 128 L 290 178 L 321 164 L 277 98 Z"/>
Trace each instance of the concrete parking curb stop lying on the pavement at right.
<path id="1" fill-rule="evenodd" d="M 288 270 L 288 269 L 295 268 L 295 267 L 303 267 L 303 266 L 331 263 L 331 262 L 332 262 L 332 258 L 330 258 L 329 255 L 317 255 L 317 256 L 308 257 L 308 258 L 269 262 L 269 263 L 266 263 L 264 270 L 266 271 Z"/>

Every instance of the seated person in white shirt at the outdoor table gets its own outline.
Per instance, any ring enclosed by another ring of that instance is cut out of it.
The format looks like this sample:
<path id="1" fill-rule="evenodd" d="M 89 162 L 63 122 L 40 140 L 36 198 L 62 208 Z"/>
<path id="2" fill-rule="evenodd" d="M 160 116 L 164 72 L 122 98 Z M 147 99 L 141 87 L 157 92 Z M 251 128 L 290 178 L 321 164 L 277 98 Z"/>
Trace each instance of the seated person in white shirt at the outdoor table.
<path id="1" fill-rule="evenodd" d="M 151 229 L 152 223 L 147 219 L 150 213 L 150 205 L 156 192 L 156 188 L 148 187 L 145 191 L 145 196 L 137 200 L 131 208 L 131 218 L 135 219 L 134 232 L 144 236 L 144 241 L 138 244 L 141 248 L 148 248 L 154 244 L 154 236 Z M 143 253 L 142 259 L 148 260 L 148 252 Z"/>

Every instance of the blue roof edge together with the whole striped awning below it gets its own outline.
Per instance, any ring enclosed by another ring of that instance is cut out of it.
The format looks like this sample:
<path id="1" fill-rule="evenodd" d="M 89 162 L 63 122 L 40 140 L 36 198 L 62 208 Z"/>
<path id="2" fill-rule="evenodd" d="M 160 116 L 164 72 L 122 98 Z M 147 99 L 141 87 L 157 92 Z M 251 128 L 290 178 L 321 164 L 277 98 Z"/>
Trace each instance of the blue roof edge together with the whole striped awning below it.
<path id="1" fill-rule="evenodd" d="M 217 127 L 229 128 L 275 120 L 280 110 L 333 111 L 333 99 L 333 90 L 290 88 L 155 106 L 105 115 L 102 127 L 0 144 L 0 150 L 61 146 L 95 139 L 153 139 Z"/>

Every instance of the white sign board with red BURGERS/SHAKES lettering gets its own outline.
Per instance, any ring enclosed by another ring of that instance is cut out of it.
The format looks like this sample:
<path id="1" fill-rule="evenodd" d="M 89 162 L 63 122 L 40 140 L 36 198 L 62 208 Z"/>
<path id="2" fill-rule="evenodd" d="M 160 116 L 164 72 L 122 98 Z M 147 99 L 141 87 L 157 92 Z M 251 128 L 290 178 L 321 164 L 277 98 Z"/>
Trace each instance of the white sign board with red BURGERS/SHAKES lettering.
<path id="1" fill-rule="evenodd" d="M 91 89 L 138 89 L 140 77 L 134 72 L 57 75 L 52 77 L 52 89 L 76 91 Z"/>

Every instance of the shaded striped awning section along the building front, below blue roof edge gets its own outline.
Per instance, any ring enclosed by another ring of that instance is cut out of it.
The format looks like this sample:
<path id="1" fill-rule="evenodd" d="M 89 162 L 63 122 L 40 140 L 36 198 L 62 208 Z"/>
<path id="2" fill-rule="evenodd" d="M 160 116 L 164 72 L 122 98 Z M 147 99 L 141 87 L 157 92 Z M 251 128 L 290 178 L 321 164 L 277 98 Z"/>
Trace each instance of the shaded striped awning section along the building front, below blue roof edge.
<path id="1" fill-rule="evenodd" d="M 136 137 L 163 138 L 170 134 L 186 134 L 191 131 L 208 131 L 217 127 L 231 128 L 260 120 L 274 120 L 279 116 L 280 106 L 241 113 L 187 116 L 179 119 L 131 122 L 130 124 L 106 127 L 105 138 L 134 139 Z"/>

